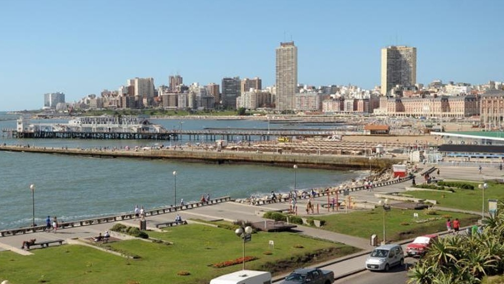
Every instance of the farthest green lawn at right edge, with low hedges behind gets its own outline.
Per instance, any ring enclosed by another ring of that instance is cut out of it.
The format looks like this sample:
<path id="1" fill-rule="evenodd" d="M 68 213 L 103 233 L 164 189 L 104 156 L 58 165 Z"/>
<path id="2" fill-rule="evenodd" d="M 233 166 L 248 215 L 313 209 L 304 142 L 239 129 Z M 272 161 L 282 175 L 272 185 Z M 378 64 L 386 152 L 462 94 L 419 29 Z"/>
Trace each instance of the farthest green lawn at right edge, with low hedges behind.
<path id="1" fill-rule="evenodd" d="M 482 190 L 478 188 L 477 183 L 469 183 L 475 186 L 474 190 L 456 189 L 454 193 L 449 191 L 427 191 L 415 190 L 407 191 L 404 194 L 415 198 L 434 199 L 437 201 L 436 206 L 455 208 L 461 210 L 470 210 L 481 212 L 482 207 Z M 488 210 L 488 199 L 504 200 L 504 186 L 487 182 L 488 188 L 485 189 L 485 211 Z"/>

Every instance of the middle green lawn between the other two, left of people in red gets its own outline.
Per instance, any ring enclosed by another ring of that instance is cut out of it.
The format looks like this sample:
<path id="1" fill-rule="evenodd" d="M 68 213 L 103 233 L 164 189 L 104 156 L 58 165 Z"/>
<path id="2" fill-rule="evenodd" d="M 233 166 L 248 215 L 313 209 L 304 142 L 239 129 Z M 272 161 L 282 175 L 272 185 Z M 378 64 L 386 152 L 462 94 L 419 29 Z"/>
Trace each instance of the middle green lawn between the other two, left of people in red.
<path id="1" fill-rule="evenodd" d="M 387 242 L 446 231 L 447 218 L 459 218 L 461 226 L 466 226 L 476 223 L 480 217 L 479 215 L 438 210 L 436 210 L 436 215 L 427 215 L 426 212 L 426 210 L 395 208 L 387 211 L 385 216 Z M 413 217 L 413 213 L 418 213 L 418 218 Z M 332 214 L 317 217 L 317 219 L 326 221 L 326 224 L 322 228 L 324 230 L 366 239 L 376 234 L 380 240 L 383 240 L 384 212 L 382 208 Z"/>

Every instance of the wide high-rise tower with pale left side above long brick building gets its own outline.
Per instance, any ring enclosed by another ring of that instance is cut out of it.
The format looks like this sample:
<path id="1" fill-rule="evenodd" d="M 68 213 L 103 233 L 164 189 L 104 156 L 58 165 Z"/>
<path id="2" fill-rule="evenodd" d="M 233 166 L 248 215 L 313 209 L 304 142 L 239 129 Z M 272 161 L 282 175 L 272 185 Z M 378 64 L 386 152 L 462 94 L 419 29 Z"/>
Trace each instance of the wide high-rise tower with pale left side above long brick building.
<path id="1" fill-rule="evenodd" d="M 416 84 L 416 47 L 388 46 L 382 48 L 382 88 L 386 95 L 396 85 Z"/>

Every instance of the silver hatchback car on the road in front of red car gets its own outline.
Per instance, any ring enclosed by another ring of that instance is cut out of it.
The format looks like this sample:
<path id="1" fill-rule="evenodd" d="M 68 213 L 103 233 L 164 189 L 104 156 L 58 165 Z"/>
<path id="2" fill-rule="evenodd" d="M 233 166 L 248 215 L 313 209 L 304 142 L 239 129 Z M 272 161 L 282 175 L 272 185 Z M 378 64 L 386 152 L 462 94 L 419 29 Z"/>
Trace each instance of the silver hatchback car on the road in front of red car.
<path id="1" fill-rule="evenodd" d="M 404 264 L 404 252 L 400 245 L 382 245 L 375 248 L 366 259 L 366 269 L 385 270 Z"/>

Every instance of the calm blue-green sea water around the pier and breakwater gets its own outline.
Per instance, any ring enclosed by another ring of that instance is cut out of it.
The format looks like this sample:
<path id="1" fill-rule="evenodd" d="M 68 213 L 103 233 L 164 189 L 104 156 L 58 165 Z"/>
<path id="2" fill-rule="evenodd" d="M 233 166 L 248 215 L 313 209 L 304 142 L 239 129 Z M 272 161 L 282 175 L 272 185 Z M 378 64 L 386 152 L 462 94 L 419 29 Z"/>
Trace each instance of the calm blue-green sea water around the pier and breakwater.
<path id="1" fill-rule="evenodd" d="M 15 128 L 18 117 L 0 112 L 0 129 Z M 151 121 L 162 124 L 166 128 L 268 128 L 267 121 L 257 120 L 163 119 Z M 43 123 L 46 122 L 48 121 L 43 121 Z M 271 124 L 269 127 L 274 129 L 302 126 Z M 320 126 L 320 128 L 331 127 Z M 2 143 L 90 148 L 143 146 L 152 145 L 155 142 L 10 139 L 2 133 Z M 166 141 L 162 143 L 169 145 Z M 0 151 L 0 208 L 4 211 L 4 214 L 0 214 L 0 230 L 31 224 L 30 184 L 35 185 L 35 222 L 42 224 L 47 215 L 55 215 L 59 220 L 68 221 L 129 212 L 136 204 L 145 208 L 174 204 L 173 171 L 177 171 L 177 203 L 181 198 L 185 202 L 199 200 L 202 194 L 207 193 L 211 197 L 230 195 L 233 198 L 243 198 L 252 194 L 267 194 L 272 190 L 287 192 L 294 187 L 294 169 L 292 168 Z M 363 175 L 365 175 L 364 172 L 299 167 L 296 173 L 296 188 L 327 187 Z"/>

